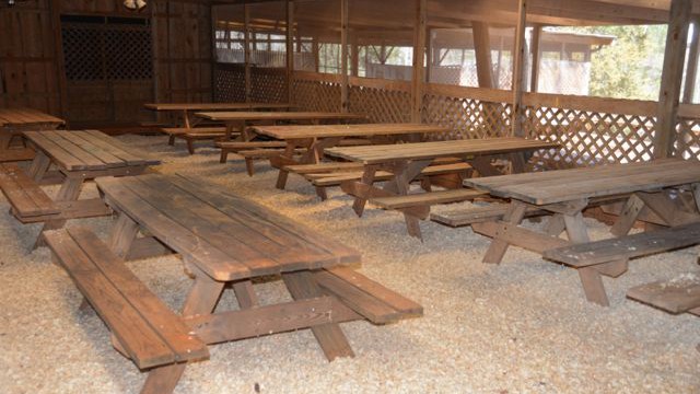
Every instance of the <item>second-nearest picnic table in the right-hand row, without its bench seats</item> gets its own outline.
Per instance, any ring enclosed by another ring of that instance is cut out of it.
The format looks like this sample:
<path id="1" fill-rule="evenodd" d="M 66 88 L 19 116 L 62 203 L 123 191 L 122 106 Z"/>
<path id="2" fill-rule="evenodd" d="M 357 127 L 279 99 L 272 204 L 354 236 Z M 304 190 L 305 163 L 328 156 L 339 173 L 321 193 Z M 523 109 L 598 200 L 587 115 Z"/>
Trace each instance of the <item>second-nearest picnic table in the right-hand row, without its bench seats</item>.
<path id="1" fill-rule="evenodd" d="M 526 154 L 539 149 L 558 147 L 557 143 L 516 137 L 417 142 L 388 146 L 363 146 L 326 149 L 328 155 L 364 164 L 362 179 L 342 183 L 343 192 L 355 197 L 353 209 L 362 216 L 368 199 L 372 197 L 407 196 L 409 185 L 435 159 L 458 158 L 471 165 L 481 176 L 500 175 L 492 160 L 510 160 L 512 172 L 525 170 Z M 393 177 L 382 188 L 374 186 L 378 171 L 388 171 Z M 408 233 L 421 237 L 419 218 L 427 217 L 424 208 L 402 211 Z"/>

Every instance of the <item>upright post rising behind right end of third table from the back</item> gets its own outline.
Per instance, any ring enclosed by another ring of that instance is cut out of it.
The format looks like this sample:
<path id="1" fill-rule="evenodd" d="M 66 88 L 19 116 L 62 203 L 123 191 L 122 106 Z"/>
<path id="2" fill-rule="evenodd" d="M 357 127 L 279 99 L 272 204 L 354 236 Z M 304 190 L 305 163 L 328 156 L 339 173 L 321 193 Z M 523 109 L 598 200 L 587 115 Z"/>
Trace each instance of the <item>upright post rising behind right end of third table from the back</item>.
<path id="1" fill-rule="evenodd" d="M 416 24 L 413 25 L 413 78 L 411 81 L 411 121 L 421 123 L 423 106 L 423 70 L 425 61 L 425 30 L 428 22 L 427 0 L 416 0 Z"/>

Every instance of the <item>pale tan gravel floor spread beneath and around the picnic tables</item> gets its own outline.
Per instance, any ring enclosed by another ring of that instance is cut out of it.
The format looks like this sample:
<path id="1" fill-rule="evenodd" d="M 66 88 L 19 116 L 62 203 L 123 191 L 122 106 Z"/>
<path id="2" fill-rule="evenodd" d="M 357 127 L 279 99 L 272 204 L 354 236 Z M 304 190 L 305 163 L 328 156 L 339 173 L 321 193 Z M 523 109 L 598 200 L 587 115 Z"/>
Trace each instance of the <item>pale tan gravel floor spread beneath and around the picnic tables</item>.
<path id="1" fill-rule="evenodd" d="M 353 359 L 327 362 L 310 331 L 213 346 L 211 360 L 188 367 L 176 393 L 700 392 L 700 320 L 625 298 L 640 283 L 700 274 L 698 247 L 635 259 L 620 278 L 604 278 L 610 306 L 602 308 L 585 301 L 575 270 L 536 254 L 513 247 L 502 264 L 482 264 L 488 240 L 468 228 L 421 222 L 420 243 L 398 213 L 368 209 L 357 218 L 338 189 L 320 202 L 293 175 L 288 190 L 276 189 L 276 171 L 261 162 L 248 177 L 242 161 L 219 164 L 213 149 L 189 157 L 166 138 L 120 138 L 161 158 L 161 172 L 222 185 L 358 248 L 363 274 L 425 310 L 386 326 L 345 324 Z M 94 185 L 85 193 L 96 196 Z M 0 198 L 0 211 L 8 209 Z M 110 220 L 79 224 L 104 237 Z M 605 224 L 586 224 L 593 239 L 606 236 Z M 39 229 L 0 215 L 0 392 L 138 392 L 145 374 L 112 349 L 92 311 L 78 310 L 81 296 L 48 250 L 31 252 Z M 179 258 L 129 265 L 171 308 L 183 304 L 191 281 Z M 256 290 L 262 303 L 289 300 L 280 281 Z M 220 308 L 237 308 L 231 292 Z"/>

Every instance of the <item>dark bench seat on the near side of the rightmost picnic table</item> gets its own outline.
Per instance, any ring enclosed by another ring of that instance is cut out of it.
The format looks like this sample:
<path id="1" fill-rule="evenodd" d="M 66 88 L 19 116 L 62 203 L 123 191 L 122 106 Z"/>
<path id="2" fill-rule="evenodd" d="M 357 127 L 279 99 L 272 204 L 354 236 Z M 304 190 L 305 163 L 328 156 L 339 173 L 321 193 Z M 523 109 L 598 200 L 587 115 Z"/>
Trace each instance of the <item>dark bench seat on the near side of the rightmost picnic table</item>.
<path id="1" fill-rule="evenodd" d="M 544 257 L 573 267 L 586 267 L 697 243 L 700 243 L 700 222 L 545 251 Z"/>

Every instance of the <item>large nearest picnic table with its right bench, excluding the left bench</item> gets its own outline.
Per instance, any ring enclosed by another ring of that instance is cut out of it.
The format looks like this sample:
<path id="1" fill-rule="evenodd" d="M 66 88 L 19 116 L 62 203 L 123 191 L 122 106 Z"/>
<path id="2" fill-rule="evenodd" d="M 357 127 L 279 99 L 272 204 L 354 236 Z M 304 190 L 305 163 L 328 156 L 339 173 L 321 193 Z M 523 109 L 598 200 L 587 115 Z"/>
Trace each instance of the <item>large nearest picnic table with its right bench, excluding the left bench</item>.
<path id="1" fill-rule="evenodd" d="M 190 339 L 211 345 L 311 328 L 332 360 L 353 356 L 338 323 L 422 314 L 420 305 L 348 268 L 360 262 L 357 251 L 228 189 L 161 174 L 96 183 L 118 212 L 108 242 L 114 254 L 127 257 L 135 247 L 162 243 L 183 257 L 195 279 L 182 309 Z M 139 230 L 145 236 L 138 237 Z M 294 301 L 260 305 L 253 279 L 269 275 L 281 275 Z M 226 288 L 240 310 L 215 311 Z M 140 313 L 149 318 L 149 310 Z M 170 362 L 149 371 L 143 392 L 176 385 L 186 363 Z"/>

